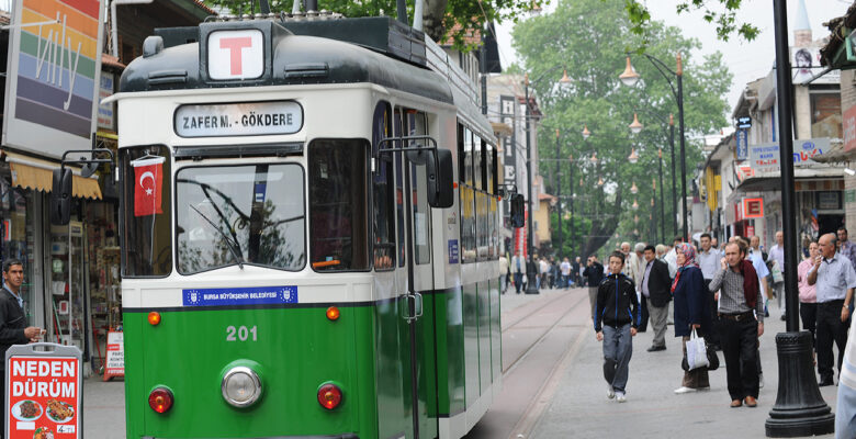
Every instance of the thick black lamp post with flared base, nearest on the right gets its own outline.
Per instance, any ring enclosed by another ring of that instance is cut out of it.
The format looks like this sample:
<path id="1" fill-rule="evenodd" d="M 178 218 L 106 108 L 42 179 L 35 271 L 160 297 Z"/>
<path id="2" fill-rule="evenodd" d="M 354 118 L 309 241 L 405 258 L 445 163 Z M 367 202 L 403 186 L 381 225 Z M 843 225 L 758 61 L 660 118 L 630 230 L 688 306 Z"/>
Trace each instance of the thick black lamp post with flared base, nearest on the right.
<path id="1" fill-rule="evenodd" d="M 776 35 L 776 100 L 779 111 L 782 232 L 785 234 L 785 292 L 787 333 L 776 335 L 779 387 L 776 404 L 765 423 L 768 437 L 825 435 L 835 429 L 835 415 L 823 401 L 812 367 L 811 333 L 800 331 L 797 312 L 797 210 L 793 192 L 792 85 L 788 48 L 788 13 L 785 0 L 773 1 Z M 843 407 L 838 407 L 841 410 Z"/>

